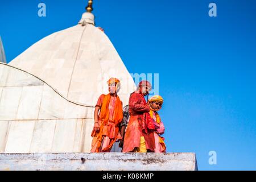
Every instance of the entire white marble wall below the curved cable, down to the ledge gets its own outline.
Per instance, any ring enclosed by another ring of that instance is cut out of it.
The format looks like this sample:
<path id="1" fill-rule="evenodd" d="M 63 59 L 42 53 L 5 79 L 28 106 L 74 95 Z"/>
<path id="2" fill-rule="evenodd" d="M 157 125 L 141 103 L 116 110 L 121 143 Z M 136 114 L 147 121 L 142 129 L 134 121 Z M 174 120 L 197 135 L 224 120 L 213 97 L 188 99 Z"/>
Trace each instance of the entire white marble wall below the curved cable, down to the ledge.
<path id="1" fill-rule="evenodd" d="M 14 73 L 0 78 L 0 152 L 90 151 L 93 107 L 70 102 L 9 65 L 0 64 L 0 71 Z"/>

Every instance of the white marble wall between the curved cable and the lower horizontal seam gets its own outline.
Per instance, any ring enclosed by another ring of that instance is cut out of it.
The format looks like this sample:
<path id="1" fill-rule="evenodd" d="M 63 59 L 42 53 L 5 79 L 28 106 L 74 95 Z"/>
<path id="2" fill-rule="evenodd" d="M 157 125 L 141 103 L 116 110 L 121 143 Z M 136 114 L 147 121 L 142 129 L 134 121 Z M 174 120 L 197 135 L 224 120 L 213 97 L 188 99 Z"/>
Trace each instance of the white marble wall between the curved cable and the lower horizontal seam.
<path id="1" fill-rule="evenodd" d="M 5 83 L 0 86 L 0 120 L 93 117 L 93 107 L 66 100 L 46 83 L 26 72 L 6 64 L 0 64 L 0 71 L 0 75 L 14 74 L 0 78 Z"/>

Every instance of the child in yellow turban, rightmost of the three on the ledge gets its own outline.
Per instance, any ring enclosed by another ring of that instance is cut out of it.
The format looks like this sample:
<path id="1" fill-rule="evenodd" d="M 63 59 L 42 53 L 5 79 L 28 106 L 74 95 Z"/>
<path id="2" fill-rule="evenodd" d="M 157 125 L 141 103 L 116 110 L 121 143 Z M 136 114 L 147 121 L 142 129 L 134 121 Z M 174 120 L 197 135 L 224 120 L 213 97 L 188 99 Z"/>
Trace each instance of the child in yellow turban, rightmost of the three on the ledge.
<path id="1" fill-rule="evenodd" d="M 162 108 L 163 98 L 161 96 L 153 96 L 148 100 L 148 103 L 150 105 L 150 117 L 153 119 L 155 126 L 155 152 L 166 152 L 166 144 L 164 143 L 164 138 L 160 136 L 164 133 L 164 125 L 157 112 Z"/>

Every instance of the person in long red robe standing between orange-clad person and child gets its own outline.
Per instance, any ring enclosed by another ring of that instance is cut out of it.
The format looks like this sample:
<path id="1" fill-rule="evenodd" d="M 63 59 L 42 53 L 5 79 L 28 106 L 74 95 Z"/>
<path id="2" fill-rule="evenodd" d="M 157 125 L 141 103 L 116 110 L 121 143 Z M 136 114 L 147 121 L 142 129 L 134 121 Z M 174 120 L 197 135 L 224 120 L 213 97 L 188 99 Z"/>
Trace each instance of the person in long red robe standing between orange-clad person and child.
<path id="1" fill-rule="evenodd" d="M 153 130 L 147 130 L 147 132 L 143 130 L 144 115 L 150 111 L 150 106 L 147 105 L 144 96 L 147 96 L 151 89 L 150 82 L 141 81 L 137 90 L 130 95 L 130 119 L 123 140 L 122 152 L 154 152 L 155 150 Z"/>

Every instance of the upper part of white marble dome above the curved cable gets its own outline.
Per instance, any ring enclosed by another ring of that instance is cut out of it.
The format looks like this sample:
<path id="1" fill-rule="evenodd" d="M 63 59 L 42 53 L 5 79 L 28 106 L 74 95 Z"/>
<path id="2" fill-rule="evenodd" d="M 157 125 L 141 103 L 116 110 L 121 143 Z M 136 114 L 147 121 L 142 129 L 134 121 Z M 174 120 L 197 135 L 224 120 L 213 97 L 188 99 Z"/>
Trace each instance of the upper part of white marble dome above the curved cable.
<path id="1" fill-rule="evenodd" d="M 68 100 L 85 105 L 95 105 L 101 93 L 108 93 L 106 81 L 110 77 L 121 81 L 119 96 L 124 104 L 135 89 L 109 38 L 89 23 L 39 40 L 9 65 L 39 77 Z"/>

